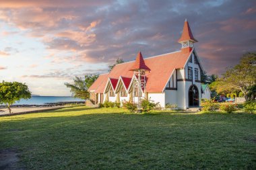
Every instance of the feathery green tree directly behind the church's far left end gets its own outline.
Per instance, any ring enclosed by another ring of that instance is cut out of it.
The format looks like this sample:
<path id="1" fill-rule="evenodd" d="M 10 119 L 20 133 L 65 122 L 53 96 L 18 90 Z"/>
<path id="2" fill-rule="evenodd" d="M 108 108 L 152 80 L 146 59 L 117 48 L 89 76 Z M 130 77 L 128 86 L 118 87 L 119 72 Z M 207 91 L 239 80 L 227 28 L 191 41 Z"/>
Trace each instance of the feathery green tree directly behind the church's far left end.
<path id="1" fill-rule="evenodd" d="M 75 77 L 73 79 L 73 84 L 65 83 L 68 88 L 71 88 L 70 91 L 73 94 L 73 97 L 80 99 L 89 99 L 90 93 L 88 91 L 89 87 L 96 81 L 98 75 L 86 75 L 85 79 L 81 77 Z"/>

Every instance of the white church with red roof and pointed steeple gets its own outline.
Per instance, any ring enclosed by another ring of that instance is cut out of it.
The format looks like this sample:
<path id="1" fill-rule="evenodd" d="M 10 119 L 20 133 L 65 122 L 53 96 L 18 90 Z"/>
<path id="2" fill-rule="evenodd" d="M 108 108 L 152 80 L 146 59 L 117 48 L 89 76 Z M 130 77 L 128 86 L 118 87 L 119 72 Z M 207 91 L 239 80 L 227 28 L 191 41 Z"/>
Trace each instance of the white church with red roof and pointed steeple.
<path id="1" fill-rule="evenodd" d="M 179 51 L 148 58 L 139 52 L 135 60 L 115 65 L 110 73 L 99 75 L 88 89 L 90 101 L 137 103 L 140 99 L 149 99 L 161 107 L 167 103 L 177 104 L 181 109 L 199 107 L 203 67 L 193 46 L 197 40 L 187 19 L 178 42 Z"/>

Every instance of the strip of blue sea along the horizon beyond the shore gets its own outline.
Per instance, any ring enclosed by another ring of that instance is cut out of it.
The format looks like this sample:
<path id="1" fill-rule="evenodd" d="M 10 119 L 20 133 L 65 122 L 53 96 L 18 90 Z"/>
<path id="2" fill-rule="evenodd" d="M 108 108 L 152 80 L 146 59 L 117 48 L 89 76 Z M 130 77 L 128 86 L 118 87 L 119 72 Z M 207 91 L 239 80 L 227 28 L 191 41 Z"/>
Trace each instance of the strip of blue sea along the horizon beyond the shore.
<path id="1" fill-rule="evenodd" d="M 57 103 L 60 101 L 85 101 L 84 99 L 78 99 L 75 97 L 59 97 L 59 96 L 32 96 L 30 99 L 21 99 L 15 104 L 22 105 L 42 105 L 44 103 Z"/>

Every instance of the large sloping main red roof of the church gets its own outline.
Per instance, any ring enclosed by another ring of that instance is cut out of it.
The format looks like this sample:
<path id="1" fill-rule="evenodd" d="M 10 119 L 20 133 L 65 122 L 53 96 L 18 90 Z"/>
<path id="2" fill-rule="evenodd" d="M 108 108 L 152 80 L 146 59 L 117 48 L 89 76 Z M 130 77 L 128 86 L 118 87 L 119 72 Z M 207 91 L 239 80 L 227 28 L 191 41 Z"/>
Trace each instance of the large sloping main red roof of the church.
<path id="1" fill-rule="evenodd" d="M 150 72 L 146 72 L 146 92 L 162 92 L 174 69 L 182 69 L 185 66 L 190 54 L 191 53 L 177 51 L 145 58 L 145 64 L 151 69 Z M 129 70 L 134 63 L 135 61 L 131 61 L 116 65 L 107 75 L 107 77 L 111 77 L 112 79 L 119 79 L 120 76 L 133 77 L 133 71 Z M 105 79 L 104 82 L 100 84 L 98 89 L 96 89 L 95 93 L 103 93 L 107 81 L 108 79 Z"/>

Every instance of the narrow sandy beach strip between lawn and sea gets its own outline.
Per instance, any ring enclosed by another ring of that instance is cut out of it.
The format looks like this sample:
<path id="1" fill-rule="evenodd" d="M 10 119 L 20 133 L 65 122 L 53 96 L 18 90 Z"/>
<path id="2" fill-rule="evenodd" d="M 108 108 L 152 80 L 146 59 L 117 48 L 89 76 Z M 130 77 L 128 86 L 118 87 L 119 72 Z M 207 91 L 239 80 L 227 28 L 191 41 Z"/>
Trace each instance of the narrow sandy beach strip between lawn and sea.
<path id="1" fill-rule="evenodd" d="M 47 108 L 42 108 L 42 107 L 41 108 L 39 107 L 11 108 L 11 115 L 44 112 L 47 110 L 57 110 L 59 108 L 63 108 L 63 107 L 56 106 L 56 107 L 47 107 Z M 0 108 L 0 116 L 5 116 L 5 115 L 9 115 L 9 110 L 7 108 Z"/>

